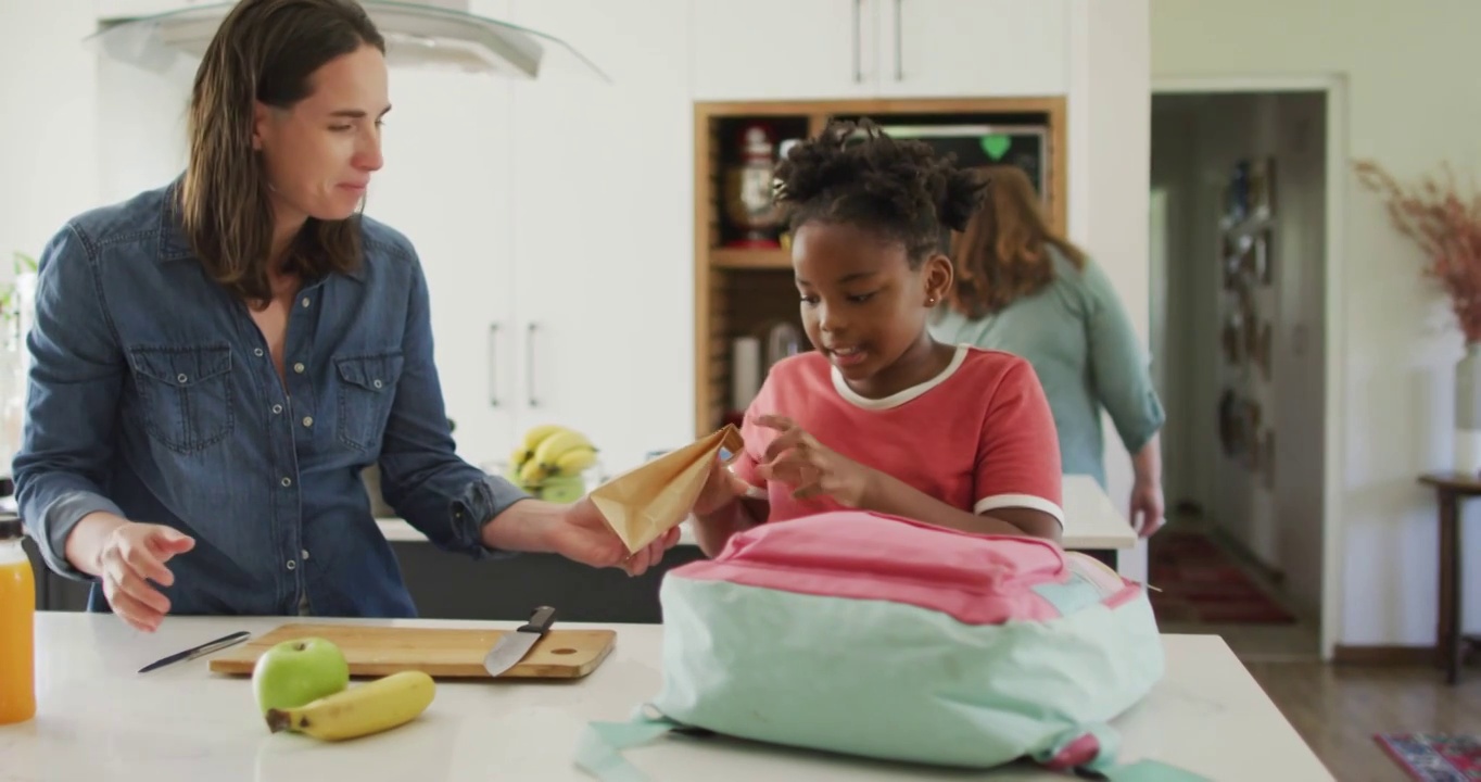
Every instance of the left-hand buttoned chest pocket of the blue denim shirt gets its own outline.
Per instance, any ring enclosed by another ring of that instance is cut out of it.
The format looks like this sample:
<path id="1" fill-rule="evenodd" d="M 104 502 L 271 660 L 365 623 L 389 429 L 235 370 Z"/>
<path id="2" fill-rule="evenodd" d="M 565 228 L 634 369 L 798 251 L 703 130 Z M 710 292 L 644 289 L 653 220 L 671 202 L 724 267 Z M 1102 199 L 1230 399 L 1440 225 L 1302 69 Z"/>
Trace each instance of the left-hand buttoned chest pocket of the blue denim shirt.
<path id="1" fill-rule="evenodd" d="M 170 450 L 194 453 L 231 434 L 228 345 L 138 347 L 130 360 L 150 437 Z"/>

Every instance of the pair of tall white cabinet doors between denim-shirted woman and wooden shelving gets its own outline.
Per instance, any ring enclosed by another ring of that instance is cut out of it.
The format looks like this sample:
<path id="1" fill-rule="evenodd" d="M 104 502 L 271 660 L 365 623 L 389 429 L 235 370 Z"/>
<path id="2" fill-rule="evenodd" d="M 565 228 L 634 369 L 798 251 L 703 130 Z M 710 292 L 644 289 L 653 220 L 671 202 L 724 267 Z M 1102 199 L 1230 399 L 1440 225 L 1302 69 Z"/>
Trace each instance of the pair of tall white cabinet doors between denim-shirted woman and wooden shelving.
<path id="1" fill-rule="evenodd" d="M 472 464 L 504 462 L 546 422 L 586 432 L 607 471 L 693 438 L 684 1 L 480 9 L 570 41 L 612 83 L 566 53 L 533 81 L 391 71 L 366 212 L 422 258 Z"/>

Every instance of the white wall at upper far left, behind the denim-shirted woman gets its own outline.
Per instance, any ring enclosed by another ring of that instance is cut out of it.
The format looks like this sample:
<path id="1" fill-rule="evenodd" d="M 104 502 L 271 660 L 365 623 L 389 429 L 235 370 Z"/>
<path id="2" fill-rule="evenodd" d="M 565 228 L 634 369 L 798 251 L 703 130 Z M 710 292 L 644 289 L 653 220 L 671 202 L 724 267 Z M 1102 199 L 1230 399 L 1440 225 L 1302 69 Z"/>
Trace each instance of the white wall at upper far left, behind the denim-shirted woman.
<path id="1" fill-rule="evenodd" d="M 92 3 L 0 0 L 0 280 L 98 201 Z"/>

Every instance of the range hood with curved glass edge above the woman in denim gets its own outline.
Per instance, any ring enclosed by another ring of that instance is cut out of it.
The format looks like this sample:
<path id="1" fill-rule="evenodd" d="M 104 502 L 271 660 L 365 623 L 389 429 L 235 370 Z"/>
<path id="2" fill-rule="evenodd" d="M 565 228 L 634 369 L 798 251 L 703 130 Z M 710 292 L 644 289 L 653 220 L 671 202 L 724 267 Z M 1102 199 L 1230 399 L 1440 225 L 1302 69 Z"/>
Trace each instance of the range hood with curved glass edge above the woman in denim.
<path id="1" fill-rule="evenodd" d="M 181 0 L 190 3 L 190 0 Z M 468 10 L 471 0 L 360 0 L 385 37 L 387 64 L 446 68 L 512 78 L 581 73 L 610 81 L 564 41 Z M 170 70 L 178 58 L 200 61 L 221 21 L 235 3 L 188 4 L 139 18 L 101 19 L 86 43 L 102 56 L 151 71 Z"/>

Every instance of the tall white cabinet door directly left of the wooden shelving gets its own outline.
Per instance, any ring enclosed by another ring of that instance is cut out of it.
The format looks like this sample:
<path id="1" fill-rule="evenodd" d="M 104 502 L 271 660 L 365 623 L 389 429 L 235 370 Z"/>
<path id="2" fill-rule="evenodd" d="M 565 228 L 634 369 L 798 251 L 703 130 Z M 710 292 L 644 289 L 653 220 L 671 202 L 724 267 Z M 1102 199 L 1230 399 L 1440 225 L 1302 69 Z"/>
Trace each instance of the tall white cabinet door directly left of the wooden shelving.
<path id="1" fill-rule="evenodd" d="M 569 41 L 514 83 L 518 425 L 586 432 L 604 467 L 693 438 L 687 0 L 512 0 Z"/>

